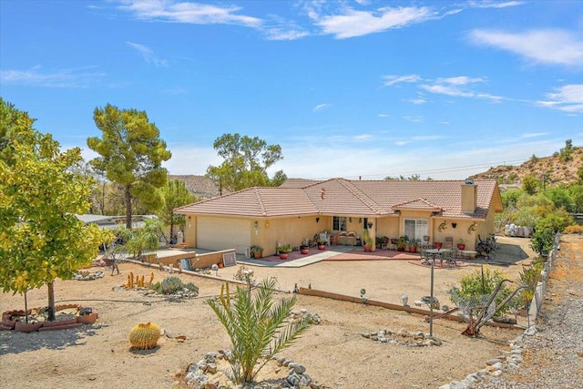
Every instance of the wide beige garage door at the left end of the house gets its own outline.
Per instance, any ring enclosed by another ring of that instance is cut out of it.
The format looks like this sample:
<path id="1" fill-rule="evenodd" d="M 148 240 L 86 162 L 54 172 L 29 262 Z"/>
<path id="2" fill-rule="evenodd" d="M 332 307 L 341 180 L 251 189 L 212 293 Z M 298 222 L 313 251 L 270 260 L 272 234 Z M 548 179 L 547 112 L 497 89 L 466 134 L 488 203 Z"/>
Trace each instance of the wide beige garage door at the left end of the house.
<path id="1" fill-rule="evenodd" d="M 251 246 L 251 220 L 199 217 L 197 230 L 200 249 L 235 249 L 243 254 Z"/>

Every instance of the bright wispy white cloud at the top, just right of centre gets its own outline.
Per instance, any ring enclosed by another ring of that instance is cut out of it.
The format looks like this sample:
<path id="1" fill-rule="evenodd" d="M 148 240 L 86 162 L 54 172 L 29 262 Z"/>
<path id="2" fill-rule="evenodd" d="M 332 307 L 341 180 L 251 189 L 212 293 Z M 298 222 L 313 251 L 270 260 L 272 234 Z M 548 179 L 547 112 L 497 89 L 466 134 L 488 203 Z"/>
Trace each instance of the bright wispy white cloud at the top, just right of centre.
<path id="1" fill-rule="evenodd" d="M 356 11 L 345 8 L 342 15 L 320 16 L 312 11 L 310 14 L 324 34 L 338 39 L 365 36 L 380 33 L 393 28 L 421 23 L 435 15 L 428 7 L 383 7 L 376 11 Z"/>

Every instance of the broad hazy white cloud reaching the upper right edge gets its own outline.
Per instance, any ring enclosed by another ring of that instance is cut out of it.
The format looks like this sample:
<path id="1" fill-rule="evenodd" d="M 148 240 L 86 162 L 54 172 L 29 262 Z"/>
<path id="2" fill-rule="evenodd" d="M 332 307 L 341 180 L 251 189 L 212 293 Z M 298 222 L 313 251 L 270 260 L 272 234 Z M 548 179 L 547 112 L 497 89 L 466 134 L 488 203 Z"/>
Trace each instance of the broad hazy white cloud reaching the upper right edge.
<path id="1" fill-rule="evenodd" d="M 583 39 L 580 34 L 565 30 L 531 30 L 513 34 L 476 29 L 469 36 L 477 45 L 494 46 L 537 63 L 573 67 L 583 64 Z"/>

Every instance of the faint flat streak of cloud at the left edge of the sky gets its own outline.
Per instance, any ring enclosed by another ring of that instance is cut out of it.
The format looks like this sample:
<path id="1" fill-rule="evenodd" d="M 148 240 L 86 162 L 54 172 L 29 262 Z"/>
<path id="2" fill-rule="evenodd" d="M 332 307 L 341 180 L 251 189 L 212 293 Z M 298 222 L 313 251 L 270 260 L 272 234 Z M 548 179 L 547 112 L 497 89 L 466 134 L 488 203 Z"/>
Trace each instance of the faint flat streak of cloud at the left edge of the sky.
<path id="1" fill-rule="evenodd" d="M 43 71 L 42 67 L 33 67 L 29 70 L 0 70 L 1 82 L 33 87 L 89 87 L 98 78 L 105 76 L 106 74 L 102 72 L 88 72 L 87 68 L 56 71 Z"/>

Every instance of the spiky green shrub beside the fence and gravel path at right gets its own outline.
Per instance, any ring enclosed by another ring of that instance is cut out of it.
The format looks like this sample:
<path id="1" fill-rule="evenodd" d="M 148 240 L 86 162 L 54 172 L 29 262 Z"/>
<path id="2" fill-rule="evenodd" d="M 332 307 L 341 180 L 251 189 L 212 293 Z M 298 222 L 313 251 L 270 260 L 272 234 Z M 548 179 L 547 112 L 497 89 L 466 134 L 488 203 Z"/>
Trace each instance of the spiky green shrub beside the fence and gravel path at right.
<path id="1" fill-rule="evenodd" d="M 458 307 L 465 305 L 468 301 L 476 300 L 477 302 L 481 296 L 492 294 L 503 280 L 505 280 L 505 276 L 502 271 L 491 270 L 486 265 L 481 270 L 462 276 L 458 280 L 459 286 L 454 286 L 449 290 L 450 300 Z M 509 288 L 505 283 L 496 296 L 496 306 L 512 292 L 514 289 Z M 516 302 L 506 304 L 496 312 L 496 316 L 506 313 L 515 304 Z"/>

